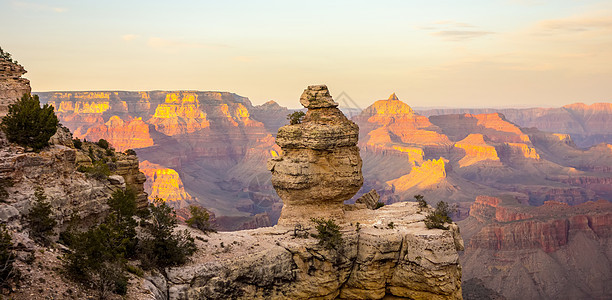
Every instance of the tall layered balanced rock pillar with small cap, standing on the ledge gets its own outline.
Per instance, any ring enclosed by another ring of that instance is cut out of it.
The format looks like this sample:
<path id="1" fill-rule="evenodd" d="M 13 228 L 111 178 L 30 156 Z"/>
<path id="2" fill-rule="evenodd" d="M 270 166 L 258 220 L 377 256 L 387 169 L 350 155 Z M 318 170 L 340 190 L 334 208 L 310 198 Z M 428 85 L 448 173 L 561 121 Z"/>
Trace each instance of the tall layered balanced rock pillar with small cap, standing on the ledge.
<path id="1" fill-rule="evenodd" d="M 359 127 L 337 108 L 324 85 L 309 86 L 300 103 L 308 109 L 298 124 L 278 130 L 282 154 L 268 162 L 272 185 L 283 200 L 278 224 L 310 218 L 343 219 L 343 203 L 363 184 L 357 148 Z"/>

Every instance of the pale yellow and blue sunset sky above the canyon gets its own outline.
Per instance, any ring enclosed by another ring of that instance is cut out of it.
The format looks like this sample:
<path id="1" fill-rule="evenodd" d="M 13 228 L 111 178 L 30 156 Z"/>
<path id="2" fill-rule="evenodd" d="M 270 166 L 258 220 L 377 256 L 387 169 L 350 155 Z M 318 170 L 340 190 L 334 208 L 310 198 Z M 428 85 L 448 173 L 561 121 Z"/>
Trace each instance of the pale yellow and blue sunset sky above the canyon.
<path id="1" fill-rule="evenodd" d="M 33 91 L 229 91 L 365 108 L 612 102 L 612 1 L 0 0 Z M 341 105 L 348 98 L 338 99 Z"/>

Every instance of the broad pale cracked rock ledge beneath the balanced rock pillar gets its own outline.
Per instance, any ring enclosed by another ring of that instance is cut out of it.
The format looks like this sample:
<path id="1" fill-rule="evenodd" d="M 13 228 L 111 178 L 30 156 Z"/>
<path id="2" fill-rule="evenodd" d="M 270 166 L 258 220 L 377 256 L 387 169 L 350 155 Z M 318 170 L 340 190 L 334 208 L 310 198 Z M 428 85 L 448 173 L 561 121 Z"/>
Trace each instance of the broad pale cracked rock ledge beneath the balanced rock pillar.
<path id="1" fill-rule="evenodd" d="M 192 262 L 143 286 L 156 299 L 461 299 L 457 227 L 428 230 L 417 211 L 349 211 L 338 250 L 278 226 L 202 236 Z"/>

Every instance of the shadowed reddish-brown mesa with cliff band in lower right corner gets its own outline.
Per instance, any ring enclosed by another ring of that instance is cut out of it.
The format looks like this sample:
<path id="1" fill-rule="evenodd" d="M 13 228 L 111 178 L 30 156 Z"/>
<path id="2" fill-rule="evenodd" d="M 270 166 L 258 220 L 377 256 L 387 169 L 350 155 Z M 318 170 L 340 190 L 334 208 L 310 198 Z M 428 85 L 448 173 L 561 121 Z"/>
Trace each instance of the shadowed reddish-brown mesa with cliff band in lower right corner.
<path id="1" fill-rule="evenodd" d="M 507 299 L 608 299 L 612 203 L 519 205 L 480 196 L 460 221 L 463 280 Z"/>

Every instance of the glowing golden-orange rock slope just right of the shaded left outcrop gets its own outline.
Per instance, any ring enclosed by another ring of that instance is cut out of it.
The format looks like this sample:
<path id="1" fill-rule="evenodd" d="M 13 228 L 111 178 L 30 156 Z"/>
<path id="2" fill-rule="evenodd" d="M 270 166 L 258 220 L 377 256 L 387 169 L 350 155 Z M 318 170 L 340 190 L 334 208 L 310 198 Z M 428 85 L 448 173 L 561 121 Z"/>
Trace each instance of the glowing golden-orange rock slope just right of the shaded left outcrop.
<path id="1" fill-rule="evenodd" d="M 149 200 L 156 197 L 172 202 L 192 199 L 191 195 L 185 192 L 183 181 L 175 170 L 145 160 L 140 163 L 140 171 L 147 176 L 144 186 Z"/>

